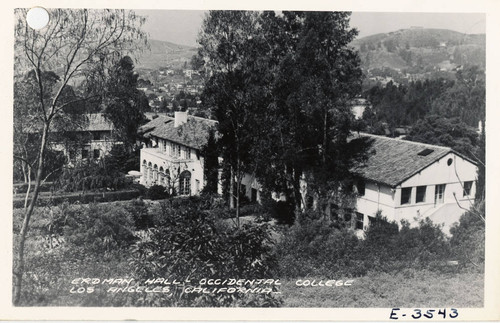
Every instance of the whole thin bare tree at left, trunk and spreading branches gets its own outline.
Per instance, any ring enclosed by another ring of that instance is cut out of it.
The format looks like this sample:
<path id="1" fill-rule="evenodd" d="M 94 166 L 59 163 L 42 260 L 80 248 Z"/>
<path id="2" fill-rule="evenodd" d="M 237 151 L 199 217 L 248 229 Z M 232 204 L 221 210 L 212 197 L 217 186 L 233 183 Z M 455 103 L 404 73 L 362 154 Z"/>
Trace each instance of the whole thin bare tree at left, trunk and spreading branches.
<path id="1" fill-rule="evenodd" d="M 99 82 L 103 66 L 112 64 L 123 54 L 147 44 L 141 30 L 145 19 L 133 11 L 124 10 L 50 10 L 49 24 L 40 30 L 31 29 L 26 23 L 26 10 L 16 10 L 15 25 L 15 79 L 32 71 L 36 80 L 35 100 L 31 112 L 34 127 L 39 134 L 36 159 L 31 163 L 34 173 L 34 189 L 26 208 L 19 234 L 19 249 L 14 266 L 14 304 L 21 296 L 24 272 L 24 244 L 30 218 L 38 199 L 45 168 L 48 136 L 54 123 L 64 115 L 65 108 L 88 97 L 78 96 L 62 100 L 68 87 L 85 89 Z M 54 84 L 47 87 L 47 77 L 57 76 Z M 92 83 L 91 83 L 92 82 Z M 104 82 L 104 81 L 103 81 Z M 91 93 L 95 93 L 91 91 Z"/>

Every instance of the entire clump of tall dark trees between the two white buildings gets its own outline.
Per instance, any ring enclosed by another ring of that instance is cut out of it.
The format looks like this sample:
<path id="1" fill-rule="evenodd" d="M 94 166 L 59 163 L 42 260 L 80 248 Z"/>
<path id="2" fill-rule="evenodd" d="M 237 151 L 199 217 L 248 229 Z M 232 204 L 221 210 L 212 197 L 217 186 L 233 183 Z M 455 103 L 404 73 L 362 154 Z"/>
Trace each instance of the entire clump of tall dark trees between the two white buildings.
<path id="1" fill-rule="evenodd" d="M 359 58 L 348 46 L 357 34 L 349 15 L 211 11 L 206 16 L 198 61 L 212 72 L 204 97 L 219 120 L 219 143 L 229 166 L 223 167 L 230 179 L 226 191 L 238 192 L 241 174 L 255 173 L 266 189 L 285 193 L 299 209 L 303 173 L 325 170 L 313 176 L 322 182 L 329 179 L 325 174 L 340 177 L 347 171 L 340 161 L 353 121 L 346 102 L 361 89 Z"/>

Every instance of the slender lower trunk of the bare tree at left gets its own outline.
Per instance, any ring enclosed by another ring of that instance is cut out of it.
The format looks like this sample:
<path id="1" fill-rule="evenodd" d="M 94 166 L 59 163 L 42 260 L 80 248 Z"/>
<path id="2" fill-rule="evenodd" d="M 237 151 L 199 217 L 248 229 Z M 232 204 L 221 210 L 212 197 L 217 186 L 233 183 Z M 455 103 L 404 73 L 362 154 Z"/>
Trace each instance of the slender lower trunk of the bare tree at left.
<path id="1" fill-rule="evenodd" d="M 50 121 L 49 121 L 50 122 Z M 40 183 L 42 179 L 42 173 L 43 173 L 43 159 L 45 155 L 45 145 L 47 141 L 47 133 L 49 130 L 49 122 L 46 122 L 44 127 L 43 127 L 43 133 L 42 133 L 42 140 L 41 140 L 41 145 L 40 145 L 40 154 L 38 157 L 38 165 L 37 165 L 37 171 L 36 171 L 36 177 L 35 177 L 35 189 L 33 191 L 33 196 L 31 197 L 31 202 L 26 210 L 26 213 L 24 215 L 23 219 L 23 225 L 21 227 L 21 231 L 19 233 L 19 250 L 18 250 L 18 261 L 17 261 L 17 266 L 14 268 L 14 277 L 15 277 L 15 282 L 14 282 L 14 305 L 18 305 L 20 298 L 21 298 L 21 288 L 22 288 L 22 281 L 23 281 L 23 274 L 24 274 L 24 244 L 26 241 L 26 235 L 29 230 L 29 222 L 31 219 L 31 215 L 33 214 L 33 210 L 35 207 L 35 204 L 38 199 L 38 193 L 40 190 Z M 29 192 L 28 192 L 29 194 Z"/>

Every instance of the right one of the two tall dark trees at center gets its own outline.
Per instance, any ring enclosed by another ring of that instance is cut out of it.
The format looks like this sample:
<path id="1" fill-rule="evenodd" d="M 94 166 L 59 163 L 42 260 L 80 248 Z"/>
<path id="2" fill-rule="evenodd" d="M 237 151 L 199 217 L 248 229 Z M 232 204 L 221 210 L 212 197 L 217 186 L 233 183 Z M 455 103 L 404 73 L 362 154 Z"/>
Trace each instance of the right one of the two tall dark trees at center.
<path id="1" fill-rule="evenodd" d="M 348 12 L 265 12 L 262 26 L 270 43 L 266 64 L 269 104 L 254 146 L 257 177 L 266 189 L 283 192 L 301 207 L 301 176 L 321 188 L 345 174 L 340 146 L 353 117 L 346 102 L 360 91 L 357 53 L 348 46 L 357 34 Z M 269 127 L 272 125 L 272 127 Z M 329 169 L 329 171 L 326 171 Z"/>

